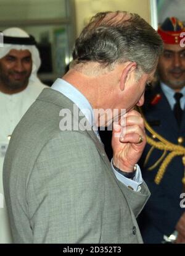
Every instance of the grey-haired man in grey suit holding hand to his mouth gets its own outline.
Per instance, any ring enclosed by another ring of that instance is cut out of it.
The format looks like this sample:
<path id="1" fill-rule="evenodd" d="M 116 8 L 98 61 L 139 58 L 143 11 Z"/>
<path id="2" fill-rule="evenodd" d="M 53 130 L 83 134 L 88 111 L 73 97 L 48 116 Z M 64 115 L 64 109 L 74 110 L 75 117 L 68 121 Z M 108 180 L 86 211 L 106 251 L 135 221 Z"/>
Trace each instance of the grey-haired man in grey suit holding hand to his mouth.
<path id="1" fill-rule="evenodd" d="M 15 243 L 142 242 L 136 217 L 149 190 L 136 163 L 146 135 L 134 106 L 161 52 L 157 32 L 136 14 L 100 13 L 84 28 L 70 70 L 10 140 L 4 191 Z M 105 126 L 115 120 L 111 163 L 96 131 L 102 117 Z"/>

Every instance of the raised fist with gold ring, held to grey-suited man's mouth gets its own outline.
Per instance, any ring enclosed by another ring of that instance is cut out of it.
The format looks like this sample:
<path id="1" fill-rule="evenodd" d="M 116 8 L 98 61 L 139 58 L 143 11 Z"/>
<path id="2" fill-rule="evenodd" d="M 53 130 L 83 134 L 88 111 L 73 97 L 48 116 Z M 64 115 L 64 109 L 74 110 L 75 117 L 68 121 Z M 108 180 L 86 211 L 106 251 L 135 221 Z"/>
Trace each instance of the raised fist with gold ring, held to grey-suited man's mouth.
<path id="1" fill-rule="evenodd" d="M 122 123 L 113 123 L 113 164 L 123 171 L 132 172 L 146 145 L 146 133 L 141 114 L 131 110 Z M 142 142 L 139 143 L 139 138 Z"/>

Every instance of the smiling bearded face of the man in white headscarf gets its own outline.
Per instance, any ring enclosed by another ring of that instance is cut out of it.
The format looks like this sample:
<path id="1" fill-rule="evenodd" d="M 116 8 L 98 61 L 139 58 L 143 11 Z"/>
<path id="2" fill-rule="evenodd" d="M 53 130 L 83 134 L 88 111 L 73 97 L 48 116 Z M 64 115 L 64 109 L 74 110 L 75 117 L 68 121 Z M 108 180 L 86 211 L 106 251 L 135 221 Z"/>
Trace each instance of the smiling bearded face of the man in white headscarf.
<path id="1" fill-rule="evenodd" d="M 12 49 L 0 59 L 0 90 L 4 93 L 18 93 L 28 85 L 32 59 L 28 50 Z"/>

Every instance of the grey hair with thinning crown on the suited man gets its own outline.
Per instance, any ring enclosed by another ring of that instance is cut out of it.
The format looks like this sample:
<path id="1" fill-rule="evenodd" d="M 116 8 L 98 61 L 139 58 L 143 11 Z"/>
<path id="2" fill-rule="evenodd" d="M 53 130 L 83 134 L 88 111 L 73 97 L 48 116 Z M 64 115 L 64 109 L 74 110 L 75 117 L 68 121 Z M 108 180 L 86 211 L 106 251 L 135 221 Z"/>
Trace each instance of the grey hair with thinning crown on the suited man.
<path id="1" fill-rule="evenodd" d="M 111 69 L 115 64 L 133 61 L 139 73 L 149 74 L 162 51 L 162 39 L 138 14 L 101 12 L 76 39 L 72 67 L 95 61 Z"/>

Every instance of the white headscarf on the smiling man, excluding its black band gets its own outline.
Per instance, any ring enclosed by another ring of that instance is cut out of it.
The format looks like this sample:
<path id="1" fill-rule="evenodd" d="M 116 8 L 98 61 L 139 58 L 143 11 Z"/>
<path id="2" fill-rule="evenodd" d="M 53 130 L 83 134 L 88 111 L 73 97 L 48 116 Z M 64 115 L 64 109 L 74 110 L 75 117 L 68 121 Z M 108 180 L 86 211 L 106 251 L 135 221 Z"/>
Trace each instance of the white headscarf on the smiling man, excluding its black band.
<path id="1" fill-rule="evenodd" d="M 20 37 L 20 38 L 30 37 L 28 33 L 26 33 L 21 28 L 7 28 L 6 30 L 2 31 L 2 34 L 4 36 L 12 36 L 12 37 Z M 37 77 L 38 69 L 41 66 L 41 59 L 39 57 L 39 51 L 36 48 L 36 46 L 35 45 L 13 45 L 13 44 L 4 43 L 4 46 L 0 47 L 0 59 L 6 56 L 6 54 L 9 53 L 11 49 L 17 49 L 17 50 L 28 49 L 28 51 L 30 51 L 33 65 L 32 65 L 32 71 L 31 71 L 29 80 L 31 82 L 41 83 L 41 81 Z"/>

